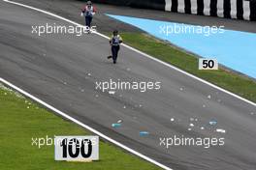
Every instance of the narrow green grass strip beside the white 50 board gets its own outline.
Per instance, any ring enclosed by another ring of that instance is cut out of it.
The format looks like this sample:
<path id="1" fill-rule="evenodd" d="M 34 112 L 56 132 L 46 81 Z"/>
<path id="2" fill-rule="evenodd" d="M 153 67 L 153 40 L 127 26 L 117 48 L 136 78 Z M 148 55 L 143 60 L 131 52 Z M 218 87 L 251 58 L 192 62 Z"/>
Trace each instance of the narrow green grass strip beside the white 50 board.
<path id="1" fill-rule="evenodd" d="M 177 68 L 201 77 L 212 84 L 233 92 L 240 97 L 256 102 L 256 81 L 239 73 L 219 69 L 218 71 L 199 71 L 198 58 L 177 49 L 166 42 L 158 41 L 143 33 L 121 34 L 125 43 L 145 53 L 170 63 Z"/>

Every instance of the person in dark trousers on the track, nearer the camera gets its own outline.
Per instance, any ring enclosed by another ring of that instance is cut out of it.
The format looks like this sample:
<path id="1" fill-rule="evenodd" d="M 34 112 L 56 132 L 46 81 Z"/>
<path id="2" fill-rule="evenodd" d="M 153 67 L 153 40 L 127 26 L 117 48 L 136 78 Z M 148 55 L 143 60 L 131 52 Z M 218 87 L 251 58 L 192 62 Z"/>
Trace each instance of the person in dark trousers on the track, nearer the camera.
<path id="1" fill-rule="evenodd" d="M 117 56 L 118 56 L 118 51 L 120 49 L 120 43 L 122 43 L 122 38 L 118 34 L 117 30 L 114 30 L 112 32 L 112 37 L 110 39 L 110 44 L 112 46 L 112 56 L 108 56 L 108 59 L 112 58 L 113 64 L 116 64 Z"/>

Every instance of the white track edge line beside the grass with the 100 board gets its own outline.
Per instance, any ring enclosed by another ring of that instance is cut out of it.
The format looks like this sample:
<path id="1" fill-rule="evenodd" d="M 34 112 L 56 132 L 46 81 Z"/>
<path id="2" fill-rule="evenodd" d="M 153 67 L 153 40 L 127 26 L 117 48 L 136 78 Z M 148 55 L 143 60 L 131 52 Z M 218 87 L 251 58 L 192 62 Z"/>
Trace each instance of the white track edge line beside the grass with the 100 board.
<path id="1" fill-rule="evenodd" d="M 159 166 L 159 167 L 161 167 L 161 168 L 163 168 L 165 170 L 173 170 L 173 169 L 167 167 L 166 165 L 163 165 L 163 164 L 157 162 L 156 160 L 154 160 L 154 159 L 152 159 L 152 158 L 150 158 L 148 156 L 144 156 L 143 154 L 141 154 L 141 153 L 139 153 L 139 152 L 137 152 L 137 151 L 135 151 L 135 150 L 133 150 L 133 149 L 131 149 L 131 148 L 129 148 L 129 147 L 127 147 L 127 146 L 125 146 L 125 145 L 115 141 L 115 140 L 113 140 L 112 138 L 108 137 L 107 135 L 101 133 L 100 131 L 84 125 L 83 123 L 81 123 L 77 119 L 74 119 L 73 117 L 69 116 L 68 114 L 66 114 L 66 113 L 56 109 L 55 107 L 49 105 L 47 102 L 45 102 L 45 101 L 43 101 L 41 99 L 38 99 L 38 98 L 34 97 L 33 95 L 23 91 L 22 89 L 16 87 L 16 85 L 12 84 L 11 82 L 9 82 L 9 81 L 1 78 L 1 77 L 0 77 L 0 82 L 2 82 L 3 84 L 11 87 L 12 89 L 15 89 L 17 92 L 19 92 L 20 94 L 26 96 L 27 98 L 33 99 L 33 100 L 37 101 L 38 103 L 44 105 L 45 107 L 47 107 L 48 109 L 52 110 L 53 112 L 59 114 L 63 118 L 66 118 L 66 119 L 76 123 L 77 125 L 79 125 L 82 128 L 86 128 L 86 129 L 90 130 L 91 132 L 95 133 L 96 135 L 99 135 L 100 137 L 102 137 L 102 138 L 108 140 L 109 142 L 113 143 L 114 145 L 116 145 L 116 146 L 118 146 L 118 147 L 120 147 L 120 148 L 122 148 L 122 149 L 124 149 L 124 150 L 126 150 L 126 151 L 128 151 L 128 152 L 130 152 L 132 154 L 134 154 L 135 156 L 140 156 L 140 157 L 144 158 L 144 160 L 147 160 L 147 161 L 149 161 L 149 162 L 151 162 L 151 163 L 153 163 L 153 164 L 155 164 L 155 165 L 157 165 L 157 166 Z"/>

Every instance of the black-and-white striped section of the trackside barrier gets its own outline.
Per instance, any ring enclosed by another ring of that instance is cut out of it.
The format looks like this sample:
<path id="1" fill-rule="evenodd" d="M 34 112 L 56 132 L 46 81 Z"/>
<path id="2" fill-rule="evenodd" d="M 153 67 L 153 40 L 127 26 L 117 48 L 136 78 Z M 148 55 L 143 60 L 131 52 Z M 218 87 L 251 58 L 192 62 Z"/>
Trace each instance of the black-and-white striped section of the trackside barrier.
<path id="1" fill-rule="evenodd" d="M 256 1 L 166 0 L 165 11 L 256 20 Z"/>

